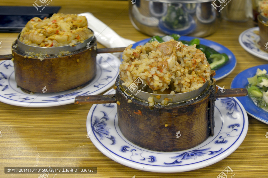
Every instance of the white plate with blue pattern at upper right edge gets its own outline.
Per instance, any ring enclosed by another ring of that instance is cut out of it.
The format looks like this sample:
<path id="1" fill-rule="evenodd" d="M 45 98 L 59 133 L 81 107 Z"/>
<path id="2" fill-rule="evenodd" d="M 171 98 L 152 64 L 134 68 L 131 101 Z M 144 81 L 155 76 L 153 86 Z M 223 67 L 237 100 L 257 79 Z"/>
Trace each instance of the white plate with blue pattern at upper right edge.
<path id="1" fill-rule="evenodd" d="M 259 27 L 253 27 L 251 29 L 243 31 L 239 35 L 239 43 L 244 48 L 244 50 L 246 50 L 250 54 L 257 56 L 261 59 L 268 60 L 268 53 L 263 51 L 258 44 L 258 42 L 260 41 L 260 36 L 256 34 L 258 33 L 258 31 Z"/>

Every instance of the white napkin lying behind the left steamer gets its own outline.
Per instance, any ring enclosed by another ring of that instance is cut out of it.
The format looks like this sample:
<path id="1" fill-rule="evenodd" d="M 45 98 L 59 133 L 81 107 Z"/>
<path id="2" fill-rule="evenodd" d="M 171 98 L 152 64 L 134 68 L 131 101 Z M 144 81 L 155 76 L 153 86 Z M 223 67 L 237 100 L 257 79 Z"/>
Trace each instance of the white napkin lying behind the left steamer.
<path id="1" fill-rule="evenodd" d="M 88 28 L 94 31 L 94 36 L 97 38 L 97 42 L 107 48 L 127 47 L 128 45 L 135 43 L 135 41 L 119 36 L 109 26 L 89 12 L 78 15 L 83 15 L 87 18 Z"/>

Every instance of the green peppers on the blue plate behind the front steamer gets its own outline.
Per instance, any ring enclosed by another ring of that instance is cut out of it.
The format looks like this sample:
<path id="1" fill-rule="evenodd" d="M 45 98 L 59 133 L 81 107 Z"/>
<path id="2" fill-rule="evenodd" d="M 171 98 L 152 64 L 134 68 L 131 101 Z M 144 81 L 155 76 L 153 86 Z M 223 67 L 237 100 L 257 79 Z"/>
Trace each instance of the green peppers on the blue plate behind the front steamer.
<path id="1" fill-rule="evenodd" d="M 174 39 L 176 41 L 179 41 L 180 35 L 171 34 L 171 35 L 167 35 L 164 37 L 153 36 L 149 40 L 149 42 L 158 41 L 161 43 L 161 42 L 169 41 L 170 39 Z M 210 48 L 210 47 L 205 46 L 205 45 L 201 45 L 200 40 L 198 38 L 194 38 L 191 41 L 184 41 L 184 40 L 180 40 L 180 41 L 184 45 L 189 45 L 189 46 L 193 46 L 194 44 L 196 44 L 196 48 L 200 49 L 203 53 L 205 53 L 207 61 L 210 64 L 210 67 L 212 70 L 219 69 L 220 67 L 224 66 L 229 61 L 229 57 L 227 56 L 227 54 L 219 53 L 219 52 L 215 51 L 213 48 Z"/>

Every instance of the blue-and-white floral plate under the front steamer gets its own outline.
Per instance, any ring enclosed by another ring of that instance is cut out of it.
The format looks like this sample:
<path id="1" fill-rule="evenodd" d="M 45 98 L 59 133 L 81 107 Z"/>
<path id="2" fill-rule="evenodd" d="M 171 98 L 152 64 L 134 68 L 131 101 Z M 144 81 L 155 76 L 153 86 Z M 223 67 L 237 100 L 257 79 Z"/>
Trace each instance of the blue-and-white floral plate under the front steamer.
<path id="1" fill-rule="evenodd" d="M 112 89 L 106 94 L 113 93 Z M 87 117 L 88 137 L 104 155 L 125 166 L 151 172 L 183 172 L 210 166 L 234 152 L 247 129 L 247 113 L 236 98 L 216 100 L 213 137 L 178 152 L 151 151 L 128 141 L 118 126 L 116 104 L 95 104 Z"/>

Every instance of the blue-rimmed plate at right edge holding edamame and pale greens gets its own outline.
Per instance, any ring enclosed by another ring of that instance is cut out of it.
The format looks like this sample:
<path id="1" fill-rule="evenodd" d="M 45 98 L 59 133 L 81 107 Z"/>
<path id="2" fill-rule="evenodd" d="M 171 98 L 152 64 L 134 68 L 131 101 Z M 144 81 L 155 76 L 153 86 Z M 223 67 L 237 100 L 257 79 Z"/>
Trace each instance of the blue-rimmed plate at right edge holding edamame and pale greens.
<path id="1" fill-rule="evenodd" d="M 245 88 L 248 85 L 247 78 L 256 75 L 258 68 L 261 70 L 264 69 L 268 70 L 268 64 L 251 67 L 249 69 L 240 72 L 233 79 L 231 83 L 231 88 Z M 250 116 L 258 119 L 261 122 L 268 124 L 268 112 L 256 106 L 249 96 L 238 97 L 238 100 L 241 102 L 241 104 L 244 106 L 245 110 Z"/>

